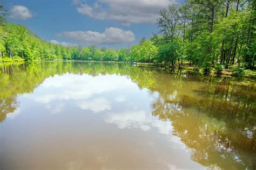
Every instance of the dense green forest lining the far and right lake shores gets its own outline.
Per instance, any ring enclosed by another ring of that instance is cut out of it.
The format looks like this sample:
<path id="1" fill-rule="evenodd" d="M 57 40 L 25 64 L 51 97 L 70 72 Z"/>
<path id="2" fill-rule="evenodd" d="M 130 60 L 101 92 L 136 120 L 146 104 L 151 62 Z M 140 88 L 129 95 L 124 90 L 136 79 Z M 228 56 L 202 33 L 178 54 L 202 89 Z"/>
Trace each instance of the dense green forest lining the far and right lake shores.
<path id="1" fill-rule="evenodd" d="M 6 22 L 8 11 L 0 5 L 0 51 L 2 61 L 98 60 L 161 63 L 180 67 L 184 63 L 206 72 L 230 65 L 254 69 L 256 2 L 253 0 L 190 0 L 182 6 L 161 9 L 159 32 L 142 38 L 129 48 L 61 46 L 40 39 L 22 25 Z"/>

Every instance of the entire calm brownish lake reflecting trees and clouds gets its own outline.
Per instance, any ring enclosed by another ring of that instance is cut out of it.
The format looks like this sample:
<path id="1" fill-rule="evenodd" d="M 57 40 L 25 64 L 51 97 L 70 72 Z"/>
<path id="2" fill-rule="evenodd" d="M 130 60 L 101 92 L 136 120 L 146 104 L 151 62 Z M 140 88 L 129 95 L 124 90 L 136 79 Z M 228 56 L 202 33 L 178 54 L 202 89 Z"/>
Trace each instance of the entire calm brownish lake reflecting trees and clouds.
<path id="1" fill-rule="evenodd" d="M 256 168 L 254 80 L 42 61 L 0 82 L 0 169 Z"/>

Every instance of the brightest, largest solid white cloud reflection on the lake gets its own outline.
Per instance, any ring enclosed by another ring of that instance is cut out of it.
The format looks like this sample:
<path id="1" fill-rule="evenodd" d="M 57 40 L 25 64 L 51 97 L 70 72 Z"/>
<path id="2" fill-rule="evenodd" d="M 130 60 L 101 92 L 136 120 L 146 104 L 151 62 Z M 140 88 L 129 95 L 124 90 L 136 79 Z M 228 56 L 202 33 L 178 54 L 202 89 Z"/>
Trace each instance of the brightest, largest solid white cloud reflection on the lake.
<path id="1" fill-rule="evenodd" d="M 49 103 L 53 100 L 85 100 L 94 94 L 116 89 L 131 89 L 136 85 L 125 76 L 65 74 L 46 79 L 35 91 L 35 101 Z"/>

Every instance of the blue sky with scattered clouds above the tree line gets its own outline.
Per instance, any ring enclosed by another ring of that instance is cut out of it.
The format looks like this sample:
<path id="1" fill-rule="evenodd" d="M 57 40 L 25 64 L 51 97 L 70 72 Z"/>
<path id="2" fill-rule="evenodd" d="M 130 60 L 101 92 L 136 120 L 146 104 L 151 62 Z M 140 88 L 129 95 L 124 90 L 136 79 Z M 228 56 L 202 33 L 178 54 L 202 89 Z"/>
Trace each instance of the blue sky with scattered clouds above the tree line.
<path id="1" fill-rule="evenodd" d="M 127 47 L 157 33 L 156 17 L 175 0 L 0 0 L 10 23 L 53 44 Z"/>

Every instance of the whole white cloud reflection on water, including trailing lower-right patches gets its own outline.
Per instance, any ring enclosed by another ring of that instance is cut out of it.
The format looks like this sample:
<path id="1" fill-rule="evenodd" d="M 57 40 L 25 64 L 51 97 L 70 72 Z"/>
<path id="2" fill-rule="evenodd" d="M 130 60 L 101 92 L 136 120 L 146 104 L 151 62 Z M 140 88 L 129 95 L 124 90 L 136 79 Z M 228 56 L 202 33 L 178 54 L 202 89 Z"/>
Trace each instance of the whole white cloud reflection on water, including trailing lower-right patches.
<path id="1" fill-rule="evenodd" d="M 46 79 L 32 95 L 25 96 L 45 104 L 53 114 L 65 112 L 71 104 L 76 109 L 104 114 L 104 121 L 119 129 L 156 128 L 163 134 L 172 132 L 170 122 L 151 115 L 151 102 L 157 94 L 139 89 L 126 76 L 55 75 Z"/>

